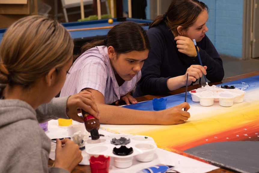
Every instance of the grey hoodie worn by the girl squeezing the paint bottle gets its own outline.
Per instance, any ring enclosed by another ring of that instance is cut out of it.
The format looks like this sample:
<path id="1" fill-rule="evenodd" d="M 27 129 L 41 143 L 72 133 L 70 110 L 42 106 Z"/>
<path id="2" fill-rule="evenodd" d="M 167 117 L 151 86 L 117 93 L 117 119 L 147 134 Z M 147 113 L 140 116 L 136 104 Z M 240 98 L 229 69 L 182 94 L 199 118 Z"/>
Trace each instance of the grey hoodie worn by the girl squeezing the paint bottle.
<path id="1" fill-rule="evenodd" d="M 68 119 L 67 99 L 53 98 L 36 111 L 21 100 L 0 100 L 0 172 L 69 172 L 48 168 L 51 141 L 38 124 L 50 119 Z"/>

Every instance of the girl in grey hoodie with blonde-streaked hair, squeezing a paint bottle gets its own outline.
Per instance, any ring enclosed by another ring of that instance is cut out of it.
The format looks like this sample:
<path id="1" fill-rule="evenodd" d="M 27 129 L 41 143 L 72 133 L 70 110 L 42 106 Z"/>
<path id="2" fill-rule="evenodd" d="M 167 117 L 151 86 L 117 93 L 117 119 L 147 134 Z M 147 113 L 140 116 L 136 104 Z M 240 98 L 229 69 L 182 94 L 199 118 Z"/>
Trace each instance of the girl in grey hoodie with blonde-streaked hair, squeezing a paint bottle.
<path id="1" fill-rule="evenodd" d="M 72 118 L 81 108 L 99 118 L 93 95 L 83 91 L 53 97 L 72 65 L 73 41 L 55 20 L 29 16 L 12 24 L 0 47 L 0 172 L 71 172 L 82 160 L 79 146 L 56 141 L 55 164 L 48 168 L 51 141 L 38 123 Z"/>

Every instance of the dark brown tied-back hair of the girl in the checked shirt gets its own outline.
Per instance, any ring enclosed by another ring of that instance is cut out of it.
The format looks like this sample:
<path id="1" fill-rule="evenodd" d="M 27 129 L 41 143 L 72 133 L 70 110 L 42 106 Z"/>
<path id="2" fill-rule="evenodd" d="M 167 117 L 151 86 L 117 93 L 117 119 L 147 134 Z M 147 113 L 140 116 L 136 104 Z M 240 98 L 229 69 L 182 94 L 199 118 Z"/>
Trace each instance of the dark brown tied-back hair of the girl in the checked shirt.
<path id="1" fill-rule="evenodd" d="M 93 40 L 84 44 L 81 47 L 81 54 L 90 48 L 101 45 L 113 46 L 117 54 L 150 49 L 146 30 L 135 22 L 122 22 L 115 25 L 108 32 L 107 39 Z M 81 54 L 76 55 L 74 60 Z"/>

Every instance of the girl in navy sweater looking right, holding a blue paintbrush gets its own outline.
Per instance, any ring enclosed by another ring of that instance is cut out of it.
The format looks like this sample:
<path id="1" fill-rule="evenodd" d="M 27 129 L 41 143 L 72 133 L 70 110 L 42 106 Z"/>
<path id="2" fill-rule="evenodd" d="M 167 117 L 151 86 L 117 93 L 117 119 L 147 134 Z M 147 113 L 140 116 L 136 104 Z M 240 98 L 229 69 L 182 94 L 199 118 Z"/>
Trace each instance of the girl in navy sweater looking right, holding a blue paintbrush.
<path id="1" fill-rule="evenodd" d="M 147 31 L 151 49 L 134 97 L 166 94 L 206 75 L 211 82 L 224 77 L 222 60 L 206 36 L 208 7 L 198 0 L 173 0 L 164 15 L 157 16 Z M 201 66 L 195 39 L 204 66 Z"/>

